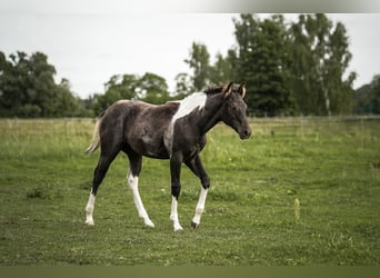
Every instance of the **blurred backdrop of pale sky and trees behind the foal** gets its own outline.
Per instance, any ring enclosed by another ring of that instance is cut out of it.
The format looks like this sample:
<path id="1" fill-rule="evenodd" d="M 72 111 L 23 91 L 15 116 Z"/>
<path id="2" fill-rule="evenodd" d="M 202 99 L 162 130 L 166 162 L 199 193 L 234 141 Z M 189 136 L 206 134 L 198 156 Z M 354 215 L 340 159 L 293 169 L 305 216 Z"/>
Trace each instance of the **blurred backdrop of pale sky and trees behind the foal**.
<path id="1" fill-rule="evenodd" d="M 252 117 L 380 113 L 380 14 L 117 2 L 2 1 L 0 117 L 93 117 L 119 99 L 163 103 L 230 81 L 246 82 Z"/>

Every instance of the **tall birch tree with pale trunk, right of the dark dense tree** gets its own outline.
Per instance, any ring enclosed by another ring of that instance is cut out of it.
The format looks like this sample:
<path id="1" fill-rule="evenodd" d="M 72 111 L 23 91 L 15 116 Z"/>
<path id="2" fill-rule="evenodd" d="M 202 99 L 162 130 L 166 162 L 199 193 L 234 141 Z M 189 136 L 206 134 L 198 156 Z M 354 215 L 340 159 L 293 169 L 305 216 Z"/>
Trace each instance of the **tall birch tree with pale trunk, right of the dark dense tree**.
<path id="1" fill-rule="evenodd" d="M 344 79 L 351 60 L 348 36 L 342 23 L 336 26 L 326 14 L 300 14 L 291 24 L 290 87 L 304 115 L 351 111 L 352 82 Z"/>

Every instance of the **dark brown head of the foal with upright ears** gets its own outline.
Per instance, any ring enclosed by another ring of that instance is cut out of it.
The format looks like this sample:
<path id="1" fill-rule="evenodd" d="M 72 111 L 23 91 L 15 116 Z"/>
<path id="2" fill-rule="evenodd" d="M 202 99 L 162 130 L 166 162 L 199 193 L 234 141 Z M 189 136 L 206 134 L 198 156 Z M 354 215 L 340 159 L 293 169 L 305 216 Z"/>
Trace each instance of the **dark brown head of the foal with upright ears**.
<path id="1" fill-rule="evenodd" d="M 229 83 L 222 93 L 224 105 L 221 112 L 221 120 L 240 136 L 240 139 L 248 139 L 251 136 L 251 128 L 247 119 L 247 105 L 243 100 L 246 95 L 244 83 L 239 87 Z"/>

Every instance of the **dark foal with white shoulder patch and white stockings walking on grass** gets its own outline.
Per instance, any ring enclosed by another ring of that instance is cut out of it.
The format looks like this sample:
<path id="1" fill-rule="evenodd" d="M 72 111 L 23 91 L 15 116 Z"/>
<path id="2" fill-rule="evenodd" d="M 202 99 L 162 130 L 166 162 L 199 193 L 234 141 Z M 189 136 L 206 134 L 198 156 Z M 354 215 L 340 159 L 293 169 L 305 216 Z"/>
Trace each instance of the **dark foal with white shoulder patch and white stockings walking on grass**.
<path id="1" fill-rule="evenodd" d="M 141 201 L 138 183 L 142 157 L 170 159 L 171 212 L 174 231 L 182 230 L 177 212 L 181 190 L 182 162 L 200 179 L 201 192 L 191 227 L 198 228 L 210 187 L 200 151 L 206 146 L 206 133 L 218 122 L 231 127 L 240 139 L 251 136 L 247 119 L 244 83 L 238 86 L 209 86 L 179 101 L 150 105 L 138 100 L 119 100 L 111 105 L 97 120 L 91 145 L 86 150 L 93 152 L 100 146 L 100 158 L 93 171 L 92 188 L 86 206 L 86 224 L 94 225 L 93 208 L 98 188 L 109 166 L 122 151 L 129 159 L 127 182 L 132 191 L 139 217 L 144 225 L 154 224 Z"/>

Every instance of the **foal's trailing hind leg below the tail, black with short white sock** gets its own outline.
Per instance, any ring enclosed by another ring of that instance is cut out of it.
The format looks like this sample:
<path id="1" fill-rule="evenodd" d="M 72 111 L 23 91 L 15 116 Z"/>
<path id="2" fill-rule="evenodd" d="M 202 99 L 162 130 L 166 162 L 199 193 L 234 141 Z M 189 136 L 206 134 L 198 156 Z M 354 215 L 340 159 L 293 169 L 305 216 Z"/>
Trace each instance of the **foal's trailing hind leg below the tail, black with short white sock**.
<path id="1" fill-rule="evenodd" d="M 90 226 L 94 225 L 92 214 L 93 214 L 98 188 L 101 181 L 103 180 L 108 171 L 108 168 L 110 167 L 111 162 L 113 161 L 118 152 L 119 152 L 119 149 L 114 149 L 112 151 L 107 150 L 107 149 L 101 150 L 98 166 L 96 167 L 93 171 L 93 180 L 92 180 L 92 188 L 91 188 L 90 197 L 86 206 L 86 224 L 87 225 L 90 225 Z"/>

